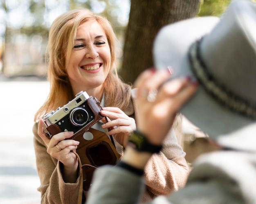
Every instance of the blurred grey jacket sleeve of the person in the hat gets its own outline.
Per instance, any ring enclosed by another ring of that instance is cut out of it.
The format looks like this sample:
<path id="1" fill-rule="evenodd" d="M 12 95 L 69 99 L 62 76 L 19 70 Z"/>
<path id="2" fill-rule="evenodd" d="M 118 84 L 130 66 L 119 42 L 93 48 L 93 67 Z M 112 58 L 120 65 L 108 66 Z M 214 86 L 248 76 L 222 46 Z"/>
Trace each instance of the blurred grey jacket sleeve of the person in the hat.
<path id="1" fill-rule="evenodd" d="M 144 188 L 142 177 L 118 166 L 103 166 L 94 173 L 86 204 L 136 204 Z"/>

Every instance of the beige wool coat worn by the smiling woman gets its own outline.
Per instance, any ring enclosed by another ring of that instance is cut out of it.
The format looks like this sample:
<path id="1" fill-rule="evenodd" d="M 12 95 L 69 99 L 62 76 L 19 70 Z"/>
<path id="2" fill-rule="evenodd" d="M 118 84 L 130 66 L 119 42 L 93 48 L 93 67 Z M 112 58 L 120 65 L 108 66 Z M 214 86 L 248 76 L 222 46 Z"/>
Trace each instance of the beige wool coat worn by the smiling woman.
<path id="1" fill-rule="evenodd" d="M 123 110 L 130 117 L 136 118 L 137 110 L 135 95 L 132 95 L 128 109 Z M 106 101 L 106 106 L 110 106 Z M 178 116 L 177 120 L 180 120 Z M 136 119 L 135 119 L 136 120 Z M 176 123 L 177 124 L 177 123 Z M 176 127 L 176 126 L 175 126 Z M 76 183 L 65 183 L 62 178 L 61 162 L 47 153 L 47 147 L 37 134 L 38 122 L 33 126 L 34 148 L 36 153 L 36 166 L 40 177 L 41 203 L 76 204 L 79 197 L 79 186 L 81 184 L 81 172 Z M 180 127 L 177 125 L 180 134 Z M 176 128 L 175 128 L 176 131 Z M 117 151 L 122 155 L 123 146 L 115 141 Z M 189 167 L 185 160 L 185 153 L 177 142 L 174 130 L 171 129 L 162 151 L 155 154 L 149 160 L 145 168 L 146 191 L 142 201 L 151 200 L 155 195 L 168 195 L 172 191 L 184 186 L 189 174 Z M 87 192 L 83 191 L 84 195 Z"/>

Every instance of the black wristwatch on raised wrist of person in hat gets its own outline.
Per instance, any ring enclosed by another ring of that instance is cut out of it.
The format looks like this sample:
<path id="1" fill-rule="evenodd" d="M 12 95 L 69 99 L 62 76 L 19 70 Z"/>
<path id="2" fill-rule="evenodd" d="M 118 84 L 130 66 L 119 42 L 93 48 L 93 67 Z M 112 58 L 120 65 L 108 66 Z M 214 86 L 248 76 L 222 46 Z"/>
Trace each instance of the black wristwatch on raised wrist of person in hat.
<path id="1" fill-rule="evenodd" d="M 162 149 L 162 145 L 151 144 L 138 130 L 132 132 L 128 145 L 141 152 L 159 153 Z"/>

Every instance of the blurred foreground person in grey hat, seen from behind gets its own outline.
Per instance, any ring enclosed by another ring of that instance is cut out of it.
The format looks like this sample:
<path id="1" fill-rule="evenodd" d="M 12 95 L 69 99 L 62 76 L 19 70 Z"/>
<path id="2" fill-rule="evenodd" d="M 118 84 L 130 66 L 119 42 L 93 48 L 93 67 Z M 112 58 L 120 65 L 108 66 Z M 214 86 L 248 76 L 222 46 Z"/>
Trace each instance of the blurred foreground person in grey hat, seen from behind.
<path id="1" fill-rule="evenodd" d="M 256 4 L 249 0 L 232 1 L 220 19 L 193 18 L 159 32 L 155 66 L 174 73 L 165 83 L 164 71 L 137 80 L 137 131 L 117 166 L 95 172 L 87 204 L 139 203 L 148 149 L 161 149 L 178 110 L 221 150 L 198 157 L 184 188 L 149 203 L 256 204 L 255 33 Z M 158 89 L 154 102 L 145 94 L 151 89 Z"/>

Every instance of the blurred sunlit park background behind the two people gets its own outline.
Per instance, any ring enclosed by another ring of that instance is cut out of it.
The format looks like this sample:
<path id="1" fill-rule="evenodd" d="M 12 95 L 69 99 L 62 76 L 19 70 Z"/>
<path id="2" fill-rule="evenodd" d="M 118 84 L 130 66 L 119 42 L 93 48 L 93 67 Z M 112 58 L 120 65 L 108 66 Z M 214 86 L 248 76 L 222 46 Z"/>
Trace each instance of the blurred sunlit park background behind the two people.
<path id="1" fill-rule="evenodd" d="M 88 8 L 112 23 L 119 74 L 132 82 L 153 65 L 160 27 L 195 16 L 220 16 L 229 0 L 0 0 L 0 204 L 39 204 L 32 126 L 49 92 L 45 49 L 49 27 L 70 9 Z M 139 49 L 138 49 L 139 48 Z M 215 148 L 186 118 L 182 140 L 189 163 Z"/>

